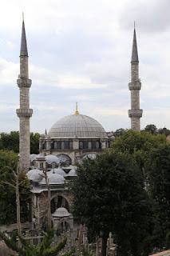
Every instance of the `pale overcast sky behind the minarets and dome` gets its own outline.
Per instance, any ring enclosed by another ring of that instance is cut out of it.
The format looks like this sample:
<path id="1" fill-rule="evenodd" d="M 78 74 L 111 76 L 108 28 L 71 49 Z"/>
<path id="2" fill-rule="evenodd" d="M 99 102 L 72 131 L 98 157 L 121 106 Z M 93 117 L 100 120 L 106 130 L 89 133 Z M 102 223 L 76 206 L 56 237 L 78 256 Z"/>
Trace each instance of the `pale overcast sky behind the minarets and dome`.
<path id="1" fill-rule="evenodd" d="M 78 102 L 105 130 L 129 128 L 133 21 L 140 58 L 141 128 L 170 129 L 169 0 L 6 0 L 0 9 L 0 131 L 18 130 L 22 11 L 30 55 L 32 131 Z"/>

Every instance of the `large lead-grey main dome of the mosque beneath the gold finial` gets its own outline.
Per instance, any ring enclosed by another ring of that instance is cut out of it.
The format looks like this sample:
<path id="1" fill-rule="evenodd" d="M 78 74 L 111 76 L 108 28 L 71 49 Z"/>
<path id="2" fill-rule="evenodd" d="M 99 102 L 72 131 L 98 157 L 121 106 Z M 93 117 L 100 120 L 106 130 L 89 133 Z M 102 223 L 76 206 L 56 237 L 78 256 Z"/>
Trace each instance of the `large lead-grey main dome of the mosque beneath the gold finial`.
<path id="1" fill-rule="evenodd" d="M 106 138 L 105 129 L 95 119 L 71 114 L 57 121 L 49 130 L 51 138 Z"/>

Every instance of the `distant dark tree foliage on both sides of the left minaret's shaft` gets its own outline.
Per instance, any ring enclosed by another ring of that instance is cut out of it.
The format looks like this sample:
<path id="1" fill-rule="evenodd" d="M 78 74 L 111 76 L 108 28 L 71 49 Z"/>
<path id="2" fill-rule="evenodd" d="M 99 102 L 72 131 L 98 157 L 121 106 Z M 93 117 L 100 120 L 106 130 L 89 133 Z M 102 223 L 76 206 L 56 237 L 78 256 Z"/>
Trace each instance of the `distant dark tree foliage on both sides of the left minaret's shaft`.
<path id="1" fill-rule="evenodd" d="M 38 154 L 40 134 L 30 133 L 30 154 Z M 0 134 L 0 150 L 13 150 L 19 153 L 19 132 Z"/>

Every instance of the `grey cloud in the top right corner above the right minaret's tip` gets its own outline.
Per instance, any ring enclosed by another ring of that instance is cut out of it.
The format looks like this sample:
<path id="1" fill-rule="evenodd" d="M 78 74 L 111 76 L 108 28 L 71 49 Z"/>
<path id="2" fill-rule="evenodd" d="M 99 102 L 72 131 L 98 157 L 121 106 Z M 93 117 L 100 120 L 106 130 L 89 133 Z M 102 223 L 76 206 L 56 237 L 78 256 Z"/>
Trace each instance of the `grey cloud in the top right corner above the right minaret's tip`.
<path id="1" fill-rule="evenodd" d="M 125 29 L 132 29 L 133 21 L 145 32 L 163 32 L 170 27 L 169 0 L 129 0 L 121 15 L 120 24 Z"/>

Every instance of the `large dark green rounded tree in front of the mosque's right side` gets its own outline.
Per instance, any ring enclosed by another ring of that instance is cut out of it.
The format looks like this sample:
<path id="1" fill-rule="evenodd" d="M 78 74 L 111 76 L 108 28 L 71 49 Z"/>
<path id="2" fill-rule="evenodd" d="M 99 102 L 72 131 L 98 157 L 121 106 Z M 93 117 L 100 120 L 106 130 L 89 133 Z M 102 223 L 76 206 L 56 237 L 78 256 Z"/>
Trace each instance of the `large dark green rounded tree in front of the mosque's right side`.
<path id="1" fill-rule="evenodd" d="M 74 214 L 85 222 L 89 238 L 101 236 L 106 254 L 109 232 L 117 255 L 148 255 L 145 240 L 152 230 L 152 205 L 144 190 L 140 170 L 130 154 L 106 151 L 86 159 L 73 182 Z"/>

